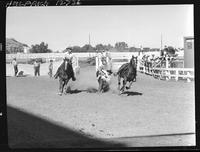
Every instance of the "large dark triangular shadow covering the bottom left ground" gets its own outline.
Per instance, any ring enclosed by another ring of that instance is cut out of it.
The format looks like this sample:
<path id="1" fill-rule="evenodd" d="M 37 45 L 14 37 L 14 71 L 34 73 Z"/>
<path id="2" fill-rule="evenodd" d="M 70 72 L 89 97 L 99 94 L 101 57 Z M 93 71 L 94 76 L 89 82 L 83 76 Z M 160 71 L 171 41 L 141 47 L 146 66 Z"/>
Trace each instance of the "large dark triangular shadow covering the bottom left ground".
<path id="1" fill-rule="evenodd" d="M 8 143 L 10 148 L 114 148 L 120 142 L 105 141 L 83 131 L 61 126 L 41 116 L 7 107 Z"/>

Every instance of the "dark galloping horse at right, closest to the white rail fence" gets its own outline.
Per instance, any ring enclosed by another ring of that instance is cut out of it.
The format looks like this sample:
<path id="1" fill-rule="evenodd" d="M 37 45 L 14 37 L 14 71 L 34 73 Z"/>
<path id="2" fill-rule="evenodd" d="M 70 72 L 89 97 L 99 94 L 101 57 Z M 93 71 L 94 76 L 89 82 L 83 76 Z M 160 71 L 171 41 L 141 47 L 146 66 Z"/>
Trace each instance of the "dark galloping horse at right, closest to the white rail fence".
<path id="1" fill-rule="evenodd" d="M 119 94 L 120 91 L 122 93 L 124 92 L 125 88 L 130 89 L 131 85 L 134 81 L 136 81 L 136 75 L 137 75 L 137 57 L 132 56 L 131 60 L 129 63 L 123 64 L 118 72 L 118 90 Z M 121 78 L 123 78 L 123 86 L 120 89 L 120 84 L 121 84 Z M 126 87 L 126 83 L 129 82 L 129 87 Z"/>

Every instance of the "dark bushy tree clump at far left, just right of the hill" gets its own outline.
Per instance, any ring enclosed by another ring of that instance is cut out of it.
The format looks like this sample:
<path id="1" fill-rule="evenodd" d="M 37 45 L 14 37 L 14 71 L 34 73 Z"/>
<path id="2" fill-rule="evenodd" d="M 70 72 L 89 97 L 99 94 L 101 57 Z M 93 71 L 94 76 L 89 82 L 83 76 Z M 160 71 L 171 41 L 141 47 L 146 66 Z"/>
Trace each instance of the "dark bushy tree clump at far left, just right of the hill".
<path id="1" fill-rule="evenodd" d="M 32 45 L 30 53 L 51 53 L 52 50 L 48 49 L 48 44 L 41 42 L 40 44 Z"/>

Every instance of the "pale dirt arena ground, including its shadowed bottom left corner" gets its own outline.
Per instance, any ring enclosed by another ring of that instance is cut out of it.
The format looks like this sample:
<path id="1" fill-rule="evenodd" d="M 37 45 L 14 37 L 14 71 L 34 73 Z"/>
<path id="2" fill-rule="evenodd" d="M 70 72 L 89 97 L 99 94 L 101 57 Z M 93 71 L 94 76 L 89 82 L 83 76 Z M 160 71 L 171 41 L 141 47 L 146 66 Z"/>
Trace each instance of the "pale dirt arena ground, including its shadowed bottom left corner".
<path id="1" fill-rule="evenodd" d="M 117 94 L 116 77 L 99 94 L 95 67 L 81 65 L 71 92 L 58 96 L 58 80 L 47 76 L 47 64 L 40 77 L 31 75 L 30 65 L 19 67 L 26 77 L 11 77 L 11 65 L 6 68 L 11 148 L 195 145 L 194 82 L 138 73 L 123 95 Z"/>

